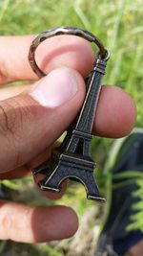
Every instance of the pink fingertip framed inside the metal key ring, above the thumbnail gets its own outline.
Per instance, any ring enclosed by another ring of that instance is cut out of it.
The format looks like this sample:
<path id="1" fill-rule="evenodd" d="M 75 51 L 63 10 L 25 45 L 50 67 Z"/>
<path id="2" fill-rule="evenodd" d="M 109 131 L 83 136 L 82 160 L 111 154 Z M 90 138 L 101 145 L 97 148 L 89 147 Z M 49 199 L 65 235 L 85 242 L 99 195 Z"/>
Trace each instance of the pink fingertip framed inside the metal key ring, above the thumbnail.
<path id="1" fill-rule="evenodd" d="M 75 35 L 53 36 L 42 42 L 36 50 L 36 62 L 45 73 L 66 65 L 86 77 L 93 61 L 91 44 Z"/>

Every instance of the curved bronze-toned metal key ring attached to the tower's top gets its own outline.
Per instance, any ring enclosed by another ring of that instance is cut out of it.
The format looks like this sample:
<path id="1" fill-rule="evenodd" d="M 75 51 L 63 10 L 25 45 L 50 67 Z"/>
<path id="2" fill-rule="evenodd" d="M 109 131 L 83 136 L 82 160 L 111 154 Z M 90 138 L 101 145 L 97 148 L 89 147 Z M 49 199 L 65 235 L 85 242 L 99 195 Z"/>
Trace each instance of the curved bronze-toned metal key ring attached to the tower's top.
<path id="1" fill-rule="evenodd" d="M 29 52 L 29 61 L 30 61 L 32 70 L 40 78 L 46 76 L 46 74 L 38 67 L 35 61 L 35 50 L 41 42 L 43 42 L 44 40 L 54 35 L 77 35 L 77 36 L 83 37 L 88 41 L 95 43 L 96 46 L 99 48 L 99 51 L 97 54 L 98 58 L 108 60 L 108 58 L 110 57 L 110 54 L 107 51 L 107 49 L 103 46 L 103 44 L 95 35 L 92 35 L 92 33 L 88 31 L 84 31 L 82 29 L 74 28 L 74 27 L 53 28 L 51 30 L 45 31 L 40 35 L 36 36 L 31 43 L 30 52 Z"/>

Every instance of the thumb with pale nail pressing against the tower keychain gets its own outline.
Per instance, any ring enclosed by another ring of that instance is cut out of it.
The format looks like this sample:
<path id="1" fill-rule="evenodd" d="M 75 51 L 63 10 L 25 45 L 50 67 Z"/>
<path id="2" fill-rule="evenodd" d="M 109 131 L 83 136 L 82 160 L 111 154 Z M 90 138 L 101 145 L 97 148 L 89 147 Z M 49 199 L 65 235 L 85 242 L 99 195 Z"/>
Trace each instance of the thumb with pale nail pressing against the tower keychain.
<path id="1" fill-rule="evenodd" d="M 31 91 L 0 102 L 0 172 L 28 163 L 71 124 L 85 93 L 84 80 L 58 68 Z"/>

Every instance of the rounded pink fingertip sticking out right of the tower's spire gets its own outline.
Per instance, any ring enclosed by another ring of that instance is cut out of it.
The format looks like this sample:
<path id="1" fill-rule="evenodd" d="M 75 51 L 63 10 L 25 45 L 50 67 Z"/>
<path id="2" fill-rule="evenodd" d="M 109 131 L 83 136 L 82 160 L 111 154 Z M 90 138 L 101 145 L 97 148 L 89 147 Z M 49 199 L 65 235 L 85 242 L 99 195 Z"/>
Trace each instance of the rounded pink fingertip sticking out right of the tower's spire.
<path id="1" fill-rule="evenodd" d="M 131 132 L 136 121 L 136 106 L 131 96 L 121 88 L 102 86 L 93 132 L 119 138 Z"/>

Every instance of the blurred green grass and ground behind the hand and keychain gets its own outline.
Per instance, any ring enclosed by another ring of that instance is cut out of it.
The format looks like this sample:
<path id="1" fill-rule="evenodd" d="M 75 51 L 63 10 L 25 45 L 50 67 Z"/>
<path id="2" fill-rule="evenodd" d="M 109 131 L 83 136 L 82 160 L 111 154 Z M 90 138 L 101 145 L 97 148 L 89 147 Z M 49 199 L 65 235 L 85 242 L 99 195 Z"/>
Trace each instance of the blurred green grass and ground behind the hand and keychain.
<path id="1" fill-rule="evenodd" d="M 138 111 L 136 127 L 143 127 L 142 0 L 0 0 L 0 35 L 39 34 L 59 26 L 88 30 L 110 49 L 112 56 L 104 83 L 116 84 L 132 95 Z M 92 141 L 92 157 L 97 162 L 95 173 L 101 194 L 107 198 L 105 204 L 86 200 L 84 188 L 75 182 L 70 184 L 64 198 L 54 202 L 40 196 L 31 177 L 2 182 L 8 197 L 15 201 L 32 205 L 73 205 L 80 228 L 72 239 L 61 242 L 1 242 L 0 255 L 92 256 L 98 233 L 108 214 L 112 177 L 108 168 L 106 172 L 103 170 L 112 141 L 99 137 Z M 143 182 L 140 186 L 143 188 Z M 143 217 L 143 206 L 141 214 Z"/>

